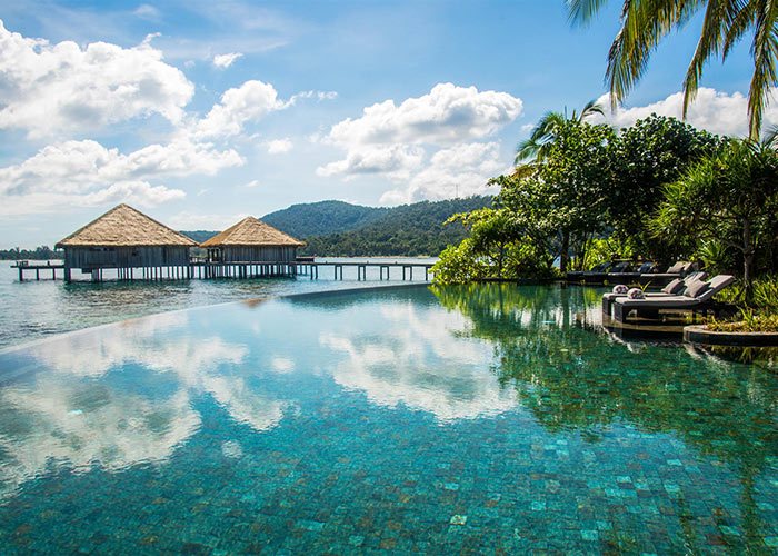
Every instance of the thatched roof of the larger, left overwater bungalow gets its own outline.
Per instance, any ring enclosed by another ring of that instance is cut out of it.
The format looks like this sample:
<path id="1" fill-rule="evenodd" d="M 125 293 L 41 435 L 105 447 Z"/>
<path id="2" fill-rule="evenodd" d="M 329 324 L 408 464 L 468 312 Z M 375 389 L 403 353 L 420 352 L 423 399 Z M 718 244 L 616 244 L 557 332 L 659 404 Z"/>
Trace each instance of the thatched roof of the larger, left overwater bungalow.
<path id="1" fill-rule="evenodd" d="M 143 246 L 196 247 L 197 241 L 122 203 L 57 244 L 57 248 Z"/>

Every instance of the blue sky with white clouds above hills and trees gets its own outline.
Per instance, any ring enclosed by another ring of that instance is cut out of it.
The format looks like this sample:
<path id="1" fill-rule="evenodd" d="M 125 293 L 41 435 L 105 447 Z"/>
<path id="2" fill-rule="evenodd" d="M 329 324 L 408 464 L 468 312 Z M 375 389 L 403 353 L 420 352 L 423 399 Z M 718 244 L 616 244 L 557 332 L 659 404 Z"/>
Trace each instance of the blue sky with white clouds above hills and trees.
<path id="1" fill-rule="evenodd" d="M 4 6 L 0 247 L 52 245 L 122 201 L 219 229 L 296 202 L 487 191 L 545 111 L 606 92 L 618 3 L 587 28 L 562 0 Z M 698 28 L 661 46 L 612 125 L 678 115 Z M 745 135 L 749 78 L 744 43 L 689 120 Z"/>

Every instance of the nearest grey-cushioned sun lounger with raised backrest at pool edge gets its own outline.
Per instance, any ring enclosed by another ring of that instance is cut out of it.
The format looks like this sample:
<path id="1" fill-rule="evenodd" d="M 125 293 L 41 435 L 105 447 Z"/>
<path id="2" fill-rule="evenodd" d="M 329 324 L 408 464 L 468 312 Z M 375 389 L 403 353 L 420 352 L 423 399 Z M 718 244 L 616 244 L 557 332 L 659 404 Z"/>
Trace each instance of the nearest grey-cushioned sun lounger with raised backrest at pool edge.
<path id="1" fill-rule="evenodd" d="M 619 322 L 626 322 L 632 310 L 636 310 L 639 317 L 657 317 L 661 310 L 707 312 L 714 296 L 734 281 L 732 276 L 719 275 L 709 282 L 692 281 L 682 296 L 647 297 L 646 299 L 617 298 L 614 301 L 614 318 Z"/>

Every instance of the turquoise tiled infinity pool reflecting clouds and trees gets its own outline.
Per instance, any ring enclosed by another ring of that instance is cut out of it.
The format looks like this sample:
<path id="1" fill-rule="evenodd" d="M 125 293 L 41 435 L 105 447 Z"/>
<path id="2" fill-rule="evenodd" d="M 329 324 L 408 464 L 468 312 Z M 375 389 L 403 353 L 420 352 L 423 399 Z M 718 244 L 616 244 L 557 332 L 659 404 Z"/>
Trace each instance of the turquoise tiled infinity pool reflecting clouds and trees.
<path id="1" fill-rule="evenodd" d="M 775 371 L 598 301 L 310 295 L 0 353 L 2 552 L 776 552 Z"/>

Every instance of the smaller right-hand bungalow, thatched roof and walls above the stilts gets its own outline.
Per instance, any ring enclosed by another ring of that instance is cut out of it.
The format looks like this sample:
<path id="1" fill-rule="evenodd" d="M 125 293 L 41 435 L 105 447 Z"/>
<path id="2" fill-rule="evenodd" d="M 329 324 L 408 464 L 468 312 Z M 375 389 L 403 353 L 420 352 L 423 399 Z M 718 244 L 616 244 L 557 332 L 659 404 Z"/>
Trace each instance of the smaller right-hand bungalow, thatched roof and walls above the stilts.
<path id="1" fill-rule="evenodd" d="M 208 260 L 215 262 L 293 262 L 297 249 L 303 245 L 249 216 L 203 241 L 200 247 L 208 249 Z"/>

